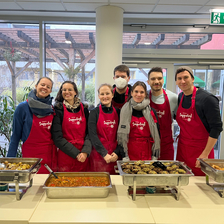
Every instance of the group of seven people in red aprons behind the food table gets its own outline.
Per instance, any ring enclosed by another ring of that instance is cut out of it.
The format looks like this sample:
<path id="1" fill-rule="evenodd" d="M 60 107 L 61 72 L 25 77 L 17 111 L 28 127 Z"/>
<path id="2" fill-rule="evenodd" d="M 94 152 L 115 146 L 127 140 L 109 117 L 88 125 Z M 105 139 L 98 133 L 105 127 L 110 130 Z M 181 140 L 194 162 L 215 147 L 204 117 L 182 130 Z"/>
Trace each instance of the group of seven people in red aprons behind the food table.
<path id="1" fill-rule="evenodd" d="M 118 159 L 174 160 L 172 122 L 180 134 L 177 160 L 195 175 L 204 175 L 197 158 L 214 158 L 214 145 L 222 131 L 218 99 L 194 86 L 190 67 L 177 69 L 175 81 L 182 92 L 163 89 L 163 71 L 148 73 L 144 82 L 129 85 L 130 70 L 114 69 L 115 85 L 98 89 L 100 104 L 88 110 L 78 98 L 74 82 L 62 83 L 52 106 L 53 82 L 40 78 L 28 99 L 20 103 L 13 119 L 8 157 L 15 157 L 20 140 L 22 156 L 42 158 L 54 171 L 109 172 Z M 41 166 L 39 173 L 48 173 Z"/>

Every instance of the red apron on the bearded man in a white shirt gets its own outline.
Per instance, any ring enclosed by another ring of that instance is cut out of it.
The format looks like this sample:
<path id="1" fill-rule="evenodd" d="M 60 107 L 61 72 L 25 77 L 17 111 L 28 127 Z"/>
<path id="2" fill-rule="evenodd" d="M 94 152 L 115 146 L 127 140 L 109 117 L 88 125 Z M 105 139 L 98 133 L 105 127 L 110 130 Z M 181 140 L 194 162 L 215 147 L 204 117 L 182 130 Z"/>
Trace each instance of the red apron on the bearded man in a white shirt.
<path id="1" fill-rule="evenodd" d="M 170 112 L 170 103 L 165 90 L 163 89 L 165 102 L 163 104 L 155 104 L 152 101 L 151 91 L 149 93 L 150 106 L 156 110 L 159 127 L 160 127 L 160 160 L 173 160 L 174 147 L 172 136 L 172 119 Z"/>

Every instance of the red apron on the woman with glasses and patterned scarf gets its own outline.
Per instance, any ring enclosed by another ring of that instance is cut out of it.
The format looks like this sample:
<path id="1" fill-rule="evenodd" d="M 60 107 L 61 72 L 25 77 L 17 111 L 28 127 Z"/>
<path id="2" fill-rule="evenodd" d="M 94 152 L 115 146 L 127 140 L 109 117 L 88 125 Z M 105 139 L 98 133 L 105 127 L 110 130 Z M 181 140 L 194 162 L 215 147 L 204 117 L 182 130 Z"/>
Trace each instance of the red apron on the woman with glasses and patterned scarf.
<path id="1" fill-rule="evenodd" d="M 62 122 L 63 138 L 72 143 L 80 152 L 82 151 L 86 136 L 86 118 L 82 103 L 78 113 L 69 112 L 64 107 L 64 117 Z M 58 150 L 58 171 L 59 172 L 84 172 L 87 170 L 88 158 L 84 163 L 73 159 L 66 153 Z"/>

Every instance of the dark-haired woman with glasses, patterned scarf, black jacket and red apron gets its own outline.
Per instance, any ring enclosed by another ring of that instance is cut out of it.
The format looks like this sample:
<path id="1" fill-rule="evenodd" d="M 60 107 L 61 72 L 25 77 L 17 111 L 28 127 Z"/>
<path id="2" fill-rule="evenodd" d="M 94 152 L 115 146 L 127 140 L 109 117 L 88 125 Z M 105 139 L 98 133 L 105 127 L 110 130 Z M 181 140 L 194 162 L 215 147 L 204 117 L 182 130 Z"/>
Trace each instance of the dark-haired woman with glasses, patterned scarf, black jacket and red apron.
<path id="1" fill-rule="evenodd" d="M 55 98 L 52 138 L 58 150 L 58 171 L 87 171 L 91 143 L 88 137 L 89 111 L 78 98 L 74 82 L 62 83 Z"/>

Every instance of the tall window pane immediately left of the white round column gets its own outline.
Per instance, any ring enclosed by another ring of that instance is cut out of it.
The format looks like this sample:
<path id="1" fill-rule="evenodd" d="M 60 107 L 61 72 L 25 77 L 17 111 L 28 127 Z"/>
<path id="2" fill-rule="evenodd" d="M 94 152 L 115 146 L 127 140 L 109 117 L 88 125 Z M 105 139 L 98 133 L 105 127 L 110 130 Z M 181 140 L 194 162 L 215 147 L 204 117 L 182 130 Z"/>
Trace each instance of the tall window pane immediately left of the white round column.
<path id="1" fill-rule="evenodd" d="M 74 81 L 81 101 L 95 101 L 95 26 L 46 24 L 46 75 L 53 96 L 63 81 Z"/>

